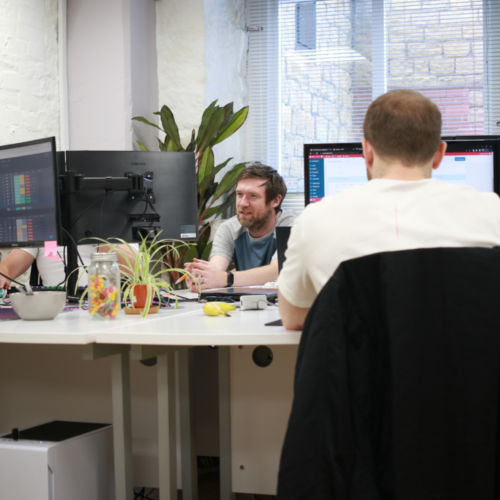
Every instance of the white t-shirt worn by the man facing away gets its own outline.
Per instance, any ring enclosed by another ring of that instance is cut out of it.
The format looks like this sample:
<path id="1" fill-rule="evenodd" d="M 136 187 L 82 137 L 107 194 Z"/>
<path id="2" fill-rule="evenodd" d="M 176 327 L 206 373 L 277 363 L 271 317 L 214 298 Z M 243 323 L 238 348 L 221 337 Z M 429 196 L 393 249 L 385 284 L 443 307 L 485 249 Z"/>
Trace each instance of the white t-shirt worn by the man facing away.
<path id="1" fill-rule="evenodd" d="M 500 245 L 500 198 L 434 179 L 373 179 L 308 205 L 295 221 L 278 278 L 283 296 L 311 307 L 345 260 L 379 252 Z"/>

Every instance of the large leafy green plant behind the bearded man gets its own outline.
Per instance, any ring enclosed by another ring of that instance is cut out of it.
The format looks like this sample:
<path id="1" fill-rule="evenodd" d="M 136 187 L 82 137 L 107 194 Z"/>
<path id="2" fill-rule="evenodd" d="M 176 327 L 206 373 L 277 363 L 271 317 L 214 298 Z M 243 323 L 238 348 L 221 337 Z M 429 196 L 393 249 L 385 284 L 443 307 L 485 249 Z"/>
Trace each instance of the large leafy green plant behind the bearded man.
<path id="1" fill-rule="evenodd" d="M 191 140 L 186 147 L 181 144 L 179 129 L 171 109 L 168 106 L 162 106 L 161 111 L 154 114 L 160 116 L 161 127 L 142 116 L 137 116 L 133 120 L 155 127 L 165 134 L 164 137 L 158 137 L 160 151 L 185 151 L 195 154 L 200 238 L 196 245 L 183 246 L 179 252 L 170 252 L 165 257 L 164 263 L 170 268 L 172 277 L 176 280 L 177 273 L 173 269 L 181 267 L 183 261 L 188 262 L 194 257 L 208 259 L 212 248 L 212 243 L 208 243 L 211 223 L 235 202 L 236 194 L 231 191 L 233 191 L 238 175 L 245 168 L 245 164 L 234 165 L 226 171 L 219 182 L 216 181 L 217 174 L 227 167 L 233 158 L 215 165 L 213 147 L 231 137 L 245 123 L 248 106 L 233 112 L 232 102 L 223 107 L 217 106 L 217 101 L 212 102 L 203 113 L 198 132 L 196 133 L 193 129 Z M 148 148 L 140 141 L 137 141 L 137 144 L 142 151 L 148 151 Z M 221 200 L 223 200 L 222 203 Z"/>

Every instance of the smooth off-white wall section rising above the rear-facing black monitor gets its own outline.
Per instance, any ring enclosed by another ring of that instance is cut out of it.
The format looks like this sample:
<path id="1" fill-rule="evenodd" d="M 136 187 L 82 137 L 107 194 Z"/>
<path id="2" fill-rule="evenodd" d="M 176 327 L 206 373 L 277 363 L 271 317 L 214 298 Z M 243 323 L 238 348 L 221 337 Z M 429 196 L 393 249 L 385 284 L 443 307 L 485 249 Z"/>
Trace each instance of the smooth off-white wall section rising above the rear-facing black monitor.
<path id="1" fill-rule="evenodd" d="M 70 149 L 132 149 L 130 0 L 67 0 Z"/>

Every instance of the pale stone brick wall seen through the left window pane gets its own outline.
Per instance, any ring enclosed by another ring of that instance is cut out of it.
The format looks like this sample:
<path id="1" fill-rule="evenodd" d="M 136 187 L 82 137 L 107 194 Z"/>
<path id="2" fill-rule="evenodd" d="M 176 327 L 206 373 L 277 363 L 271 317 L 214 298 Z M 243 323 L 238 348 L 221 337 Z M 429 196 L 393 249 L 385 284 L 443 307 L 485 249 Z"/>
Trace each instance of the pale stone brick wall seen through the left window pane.
<path id="1" fill-rule="evenodd" d="M 320 54 L 350 46 L 351 1 L 316 4 L 316 50 L 295 50 L 295 4 L 281 18 L 282 173 L 289 190 L 304 189 L 303 145 L 351 141 L 352 62 L 321 62 Z"/>

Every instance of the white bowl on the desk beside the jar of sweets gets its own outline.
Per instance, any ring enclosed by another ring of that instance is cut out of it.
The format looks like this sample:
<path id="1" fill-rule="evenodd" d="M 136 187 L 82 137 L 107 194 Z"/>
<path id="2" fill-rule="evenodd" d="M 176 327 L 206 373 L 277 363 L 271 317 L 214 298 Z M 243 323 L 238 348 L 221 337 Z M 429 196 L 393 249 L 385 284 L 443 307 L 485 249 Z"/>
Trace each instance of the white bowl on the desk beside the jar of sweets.
<path id="1" fill-rule="evenodd" d="M 46 291 L 25 295 L 21 292 L 10 295 L 12 308 L 26 321 L 54 319 L 66 305 L 66 292 Z"/>

